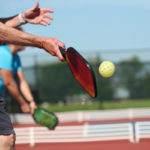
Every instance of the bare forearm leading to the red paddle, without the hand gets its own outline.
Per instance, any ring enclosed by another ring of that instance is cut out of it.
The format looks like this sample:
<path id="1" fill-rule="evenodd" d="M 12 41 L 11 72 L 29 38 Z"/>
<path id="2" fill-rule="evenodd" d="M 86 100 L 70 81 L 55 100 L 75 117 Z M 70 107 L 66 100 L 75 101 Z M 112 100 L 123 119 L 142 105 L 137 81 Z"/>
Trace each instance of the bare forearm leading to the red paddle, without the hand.
<path id="1" fill-rule="evenodd" d="M 37 37 L 0 23 L 0 41 L 16 45 L 42 48 L 42 37 Z"/>

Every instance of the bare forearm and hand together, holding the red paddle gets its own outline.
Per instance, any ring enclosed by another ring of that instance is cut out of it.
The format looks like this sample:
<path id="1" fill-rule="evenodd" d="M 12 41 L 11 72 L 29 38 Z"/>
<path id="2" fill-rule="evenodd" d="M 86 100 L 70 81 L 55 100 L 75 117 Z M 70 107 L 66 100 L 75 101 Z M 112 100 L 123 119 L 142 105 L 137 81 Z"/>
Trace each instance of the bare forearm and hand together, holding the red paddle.
<path id="1" fill-rule="evenodd" d="M 57 56 L 59 60 L 64 61 L 59 47 L 65 48 L 65 45 L 55 38 L 34 36 L 0 23 L 0 41 L 16 45 L 43 48 L 51 55 Z"/>

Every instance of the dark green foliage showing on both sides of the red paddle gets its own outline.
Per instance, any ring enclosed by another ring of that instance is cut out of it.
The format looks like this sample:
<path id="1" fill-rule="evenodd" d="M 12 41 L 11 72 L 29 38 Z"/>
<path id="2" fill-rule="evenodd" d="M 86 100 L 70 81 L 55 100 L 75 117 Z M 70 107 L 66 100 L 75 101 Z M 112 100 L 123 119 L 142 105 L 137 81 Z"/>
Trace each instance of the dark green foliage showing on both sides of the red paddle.
<path id="1" fill-rule="evenodd" d="M 97 80 L 97 99 L 111 99 L 113 95 L 111 79 L 100 77 L 98 73 L 100 59 L 97 58 L 96 61 L 92 63 L 92 67 Z M 86 93 L 74 79 L 67 63 L 47 64 L 38 68 L 36 72 L 36 88 L 40 91 L 40 99 L 43 101 L 65 102 L 67 97 Z"/>

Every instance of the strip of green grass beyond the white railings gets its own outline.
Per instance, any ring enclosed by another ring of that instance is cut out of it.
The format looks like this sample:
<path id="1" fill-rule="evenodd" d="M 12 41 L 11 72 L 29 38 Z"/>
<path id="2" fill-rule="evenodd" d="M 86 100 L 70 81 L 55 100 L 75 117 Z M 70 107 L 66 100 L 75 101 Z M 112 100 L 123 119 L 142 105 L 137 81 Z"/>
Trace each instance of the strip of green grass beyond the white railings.
<path id="1" fill-rule="evenodd" d="M 102 105 L 102 106 L 101 106 Z M 77 111 L 77 110 L 110 110 L 110 109 L 127 109 L 127 108 L 147 108 L 150 107 L 150 99 L 132 99 L 132 100 L 120 100 L 120 101 L 104 101 L 102 104 L 98 102 L 92 102 L 90 104 L 71 104 L 71 105 L 41 105 L 52 112 L 65 112 L 65 111 Z"/>

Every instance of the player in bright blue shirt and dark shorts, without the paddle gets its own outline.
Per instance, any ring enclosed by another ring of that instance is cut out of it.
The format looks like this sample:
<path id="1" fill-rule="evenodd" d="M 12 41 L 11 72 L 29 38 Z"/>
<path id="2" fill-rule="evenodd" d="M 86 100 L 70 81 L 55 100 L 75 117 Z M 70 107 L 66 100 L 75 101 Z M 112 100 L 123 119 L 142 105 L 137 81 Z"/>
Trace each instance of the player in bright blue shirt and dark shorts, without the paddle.
<path id="1" fill-rule="evenodd" d="M 29 85 L 24 78 L 21 61 L 17 54 L 23 49 L 23 46 L 12 44 L 0 46 L 0 149 L 2 150 L 14 149 L 15 145 L 15 132 L 6 111 L 5 88 L 20 104 L 24 113 L 33 114 L 34 109 L 37 108 Z"/>

